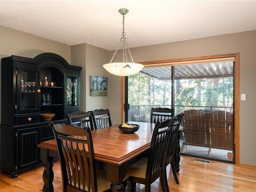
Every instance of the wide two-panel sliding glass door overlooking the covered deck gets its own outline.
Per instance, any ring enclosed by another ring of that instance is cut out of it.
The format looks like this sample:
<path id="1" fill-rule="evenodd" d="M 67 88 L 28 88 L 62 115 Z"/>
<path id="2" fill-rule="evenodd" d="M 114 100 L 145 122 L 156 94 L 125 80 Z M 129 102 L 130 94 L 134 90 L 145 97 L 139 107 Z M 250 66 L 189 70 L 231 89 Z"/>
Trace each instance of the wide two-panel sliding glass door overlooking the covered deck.
<path id="1" fill-rule="evenodd" d="M 181 154 L 233 162 L 233 69 L 233 61 L 145 67 L 125 79 L 125 120 L 150 122 L 159 107 L 183 112 Z"/>

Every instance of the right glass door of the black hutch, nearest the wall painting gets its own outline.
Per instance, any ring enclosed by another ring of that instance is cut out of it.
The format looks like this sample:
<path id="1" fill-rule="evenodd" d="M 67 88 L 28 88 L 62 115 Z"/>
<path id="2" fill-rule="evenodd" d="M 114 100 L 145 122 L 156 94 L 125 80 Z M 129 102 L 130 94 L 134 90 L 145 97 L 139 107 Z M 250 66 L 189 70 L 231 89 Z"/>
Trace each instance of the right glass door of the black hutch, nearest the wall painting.
<path id="1" fill-rule="evenodd" d="M 79 109 L 79 77 L 67 76 L 66 77 L 66 96 L 65 105 L 66 109 Z"/>

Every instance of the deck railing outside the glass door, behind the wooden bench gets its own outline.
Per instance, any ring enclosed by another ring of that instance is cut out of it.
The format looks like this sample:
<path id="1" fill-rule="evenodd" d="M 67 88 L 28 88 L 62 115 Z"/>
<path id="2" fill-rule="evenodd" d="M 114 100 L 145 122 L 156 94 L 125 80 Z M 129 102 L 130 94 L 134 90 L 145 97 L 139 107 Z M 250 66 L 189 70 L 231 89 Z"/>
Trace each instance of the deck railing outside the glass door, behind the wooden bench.
<path id="1" fill-rule="evenodd" d="M 130 105 L 130 110 L 139 110 L 140 114 L 145 115 L 147 121 L 150 120 L 151 108 L 172 108 L 172 105 L 161 105 L 161 104 L 140 104 Z M 182 111 L 195 109 L 195 110 L 222 110 L 233 112 L 232 106 L 198 106 L 198 105 L 175 105 L 175 114 L 179 114 Z"/>

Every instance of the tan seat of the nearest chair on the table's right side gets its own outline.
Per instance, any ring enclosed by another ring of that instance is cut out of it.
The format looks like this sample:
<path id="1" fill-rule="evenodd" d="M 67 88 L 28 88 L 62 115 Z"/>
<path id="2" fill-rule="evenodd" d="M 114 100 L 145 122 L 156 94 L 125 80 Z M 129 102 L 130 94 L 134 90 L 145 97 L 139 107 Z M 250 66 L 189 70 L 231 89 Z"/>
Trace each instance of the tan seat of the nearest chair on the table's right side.
<path id="1" fill-rule="evenodd" d="M 147 165 L 147 158 L 143 158 L 127 168 L 126 177 L 132 176 L 137 178 L 146 178 L 146 165 Z"/>

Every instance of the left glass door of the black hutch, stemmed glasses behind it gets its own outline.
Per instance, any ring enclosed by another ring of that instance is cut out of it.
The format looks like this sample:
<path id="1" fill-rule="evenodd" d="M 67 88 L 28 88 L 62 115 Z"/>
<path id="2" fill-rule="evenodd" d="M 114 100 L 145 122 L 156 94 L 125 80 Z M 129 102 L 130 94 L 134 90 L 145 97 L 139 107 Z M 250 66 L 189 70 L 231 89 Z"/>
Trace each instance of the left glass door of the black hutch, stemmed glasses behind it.
<path id="1" fill-rule="evenodd" d="M 38 72 L 31 69 L 17 70 L 18 113 L 34 113 L 38 111 L 37 94 Z"/>

